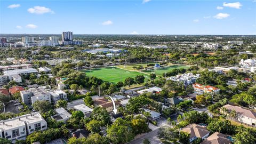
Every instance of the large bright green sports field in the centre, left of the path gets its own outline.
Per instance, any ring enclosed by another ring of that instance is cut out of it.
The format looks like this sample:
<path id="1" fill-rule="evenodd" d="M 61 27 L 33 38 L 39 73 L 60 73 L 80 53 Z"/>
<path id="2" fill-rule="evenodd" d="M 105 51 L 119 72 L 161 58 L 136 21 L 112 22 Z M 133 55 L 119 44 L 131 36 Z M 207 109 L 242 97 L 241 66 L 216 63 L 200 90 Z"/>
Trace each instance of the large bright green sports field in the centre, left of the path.
<path id="1" fill-rule="evenodd" d="M 149 79 L 149 75 L 142 74 L 137 71 L 129 71 L 124 69 L 119 69 L 116 67 L 103 67 L 103 68 L 94 68 L 90 70 L 81 70 L 84 73 L 86 73 L 87 76 L 95 76 L 103 81 L 111 82 L 111 83 L 117 83 L 120 82 L 121 79 L 121 73 L 122 73 L 122 79 L 121 81 L 124 82 L 125 78 L 127 77 L 136 77 L 137 75 L 143 75 L 146 79 Z"/>

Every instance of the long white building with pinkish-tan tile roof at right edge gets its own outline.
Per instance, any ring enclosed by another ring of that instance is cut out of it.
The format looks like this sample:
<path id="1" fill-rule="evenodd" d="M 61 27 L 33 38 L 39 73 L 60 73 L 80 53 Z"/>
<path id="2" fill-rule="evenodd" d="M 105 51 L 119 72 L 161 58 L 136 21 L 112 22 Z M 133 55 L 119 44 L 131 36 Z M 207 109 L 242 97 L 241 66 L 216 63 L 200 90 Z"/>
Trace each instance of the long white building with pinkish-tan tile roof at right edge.
<path id="1" fill-rule="evenodd" d="M 231 110 L 236 111 L 236 121 L 249 124 L 251 126 L 256 126 L 256 113 L 253 110 L 244 109 L 238 106 L 225 105 L 222 108 L 226 108 L 229 112 Z M 225 111 L 220 108 L 220 113 L 225 114 Z"/>

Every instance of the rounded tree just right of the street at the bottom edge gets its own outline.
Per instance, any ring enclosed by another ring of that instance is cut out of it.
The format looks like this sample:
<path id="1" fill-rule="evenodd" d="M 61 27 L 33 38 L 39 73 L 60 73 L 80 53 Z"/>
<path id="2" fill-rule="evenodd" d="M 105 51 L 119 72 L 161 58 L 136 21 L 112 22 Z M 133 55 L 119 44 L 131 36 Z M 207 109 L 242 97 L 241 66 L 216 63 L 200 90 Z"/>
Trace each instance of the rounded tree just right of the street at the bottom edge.
<path id="1" fill-rule="evenodd" d="M 165 142 L 168 139 L 176 138 L 178 136 L 178 132 L 170 127 L 160 127 L 157 132 L 157 137 L 165 139 Z"/>

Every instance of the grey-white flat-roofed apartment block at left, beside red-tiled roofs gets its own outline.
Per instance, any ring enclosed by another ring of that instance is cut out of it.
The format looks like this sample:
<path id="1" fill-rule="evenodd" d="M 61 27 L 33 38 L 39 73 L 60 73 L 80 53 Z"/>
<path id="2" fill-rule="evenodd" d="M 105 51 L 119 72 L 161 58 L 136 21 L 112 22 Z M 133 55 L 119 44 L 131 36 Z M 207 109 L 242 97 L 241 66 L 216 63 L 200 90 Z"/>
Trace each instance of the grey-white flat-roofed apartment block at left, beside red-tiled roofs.
<path id="1" fill-rule="evenodd" d="M 33 105 L 33 103 L 37 100 L 47 100 L 51 102 L 50 93 L 40 88 L 33 88 L 25 91 L 20 91 L 20 96 L 22 102 L 24 102 L 26 105 Z"/>

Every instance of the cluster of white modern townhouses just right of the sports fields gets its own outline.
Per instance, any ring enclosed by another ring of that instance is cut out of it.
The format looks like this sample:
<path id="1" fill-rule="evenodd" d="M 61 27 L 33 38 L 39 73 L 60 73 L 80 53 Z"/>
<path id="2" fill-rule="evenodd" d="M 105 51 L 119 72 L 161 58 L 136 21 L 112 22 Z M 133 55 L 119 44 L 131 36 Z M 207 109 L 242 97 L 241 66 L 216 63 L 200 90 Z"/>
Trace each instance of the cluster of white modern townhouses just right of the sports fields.
<path id="1" fill-rule="evenodd" d="M 171 76 L 168 77 L 167 80 L 172 80 L 175 82 L 183 82 L 184 85 L 190 85 L 194 84 L 196 82 L 196 79 L 200 77 L 200 74 L 193 75 L 192 73 L 177 75 L 177 76 Z"/>

